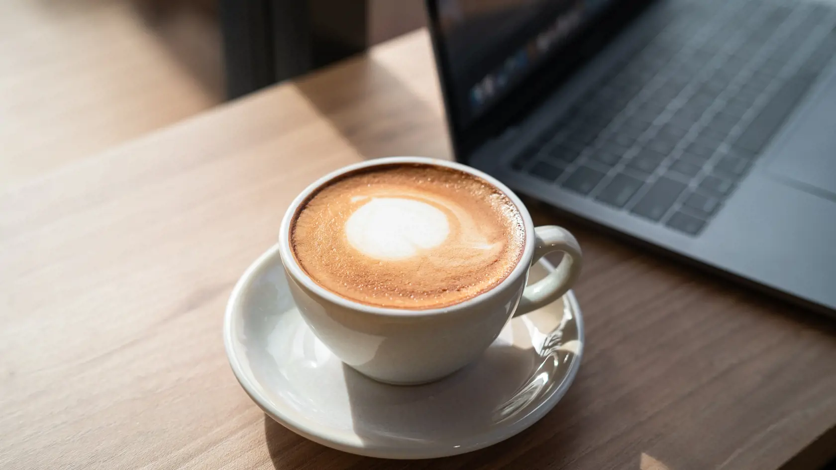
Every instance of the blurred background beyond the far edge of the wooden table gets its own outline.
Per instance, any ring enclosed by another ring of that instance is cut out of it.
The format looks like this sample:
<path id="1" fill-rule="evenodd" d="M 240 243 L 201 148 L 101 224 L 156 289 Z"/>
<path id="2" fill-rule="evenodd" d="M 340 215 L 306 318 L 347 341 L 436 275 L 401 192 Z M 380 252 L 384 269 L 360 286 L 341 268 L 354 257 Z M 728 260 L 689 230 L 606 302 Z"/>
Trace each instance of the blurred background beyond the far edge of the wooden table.
<path id="1" fill-rule="evenodd" d="M 421 0 L 4 0 L 0 187 L 425 23 Z"/>

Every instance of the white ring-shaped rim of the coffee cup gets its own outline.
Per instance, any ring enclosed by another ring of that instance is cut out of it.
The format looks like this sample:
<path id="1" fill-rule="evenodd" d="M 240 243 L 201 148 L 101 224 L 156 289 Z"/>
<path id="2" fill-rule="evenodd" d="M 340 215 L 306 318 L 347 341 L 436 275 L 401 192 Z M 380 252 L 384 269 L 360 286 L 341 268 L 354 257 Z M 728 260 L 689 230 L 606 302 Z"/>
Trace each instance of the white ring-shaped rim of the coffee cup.
<path id="1" fill-rule="evenodd" d="M 307 273 L 304 272 L 303 268 L 298 265 L 296 257 L 293 256 L 293 249 L 290 247 L 290 223 L 293 221 L 293 217 L 295 216 L 298 207 L 301 206 L 302 203 L 308 199 L 311 193 L 319 190 L 320 187 L 325 186 L 327 183 L 334 180 L 334 178 L 337 178 L 338 176 L 342 176 L 351 171 L 368 168 L 370 166 L 395 165 L 399 163 L 418 163 L 432 166 L 446 166 L 454 170 L 470 173 L 471 175 L 482 178 L 483 180 L 497 187 L 499 191 L 505 194 L 505 196 L 507 196 L 508 199 L 510 199 L 511 202 L 514 203 L 514 206 L 517 207 L 517 212 L 519 212 L 520 215 L 523 217 L 523 226 L 525 227 L 525 246 L 523 248 L 523 255 L 520 257 L 519 261 L 517 261 L 517 265 L 514 266 L 511 273 L 509 273 L 506 278 L 502 279 L 502 281 L 499 284 L 493 286 L 491 289 L 482 292 L 482 294 L 477 294 L 477 296 L 472 297 L 471 299 L 463 300 L 458 304 L 453 304 L 436 309 L 394 309 L 387 307 L 375 307 L 373 305 L 361 304 L 359 302 L 355 302 L 354 300 L 345 299 L 344 297 L 341 297 L 338 294 L 334 294 L 334 292 L 331 292 L 329 289 L 325 289 L 323 286 L 319 285 L 316 281 L 314 281 L 313 278 L 308 276 Z M 288 207 L 288 211 L 284 213 L 281 231 L 278 235 L 278 245 L 279 253 L 281 255 L 282 263 L 284 264 L 285 269 L 287 269 L 288 272 L 291 273 L 293 279 L 297 283 L 303 284 L 305 289 L 314 292 L 314 294 L 317 294 L 319 297 L 322 297 L 328 300 L 329 302 L 337 304 L 346 309 L 358 310 L 368 314 L 396 317 L 415 317 L 436 314 L 450 314 L 458 310 L 469 309 L 477 304 L 482 304 L 483 302 L 496 296 L 497 293 L 502 291 L 502 289 L 507 288 L 508 284 L 513 284 L 517 281 L 517 279 L 520 276 L 524 276 L 526 273 L 528 273 L 528 268 L 531 264 L 531 260 L 534 254 L 533 225 L 534 223 L 532 222 L 531 215 L 528 213 L 528 209 L 523 204 L 523 201 L 521 201 L 516 194 L 514 194 L 507 186 L 502 184 L 502 182 L 498 181 L 493 176 L 487 175 L 486 173 L 479 171 L 475 168 L 465 166 L 461 163 L 456 163 L 454 161 L 439 160 L 436 158 L 430 158 L 425 156 L 389 156 L 385 158 L 361 161 L 359 163 L 354 163 L 353 165 L 344 166 L 339 170 L 331 171 L 329 174 L 322 176 L 317 181 L 314 181 L 313 183 L 308 185 L 308 187 L 306 187 L 303 190 L 303 192 L 300 192 L 298 196 L 293 199 L 293 202 L 291 202 L 290 207 Z"/>

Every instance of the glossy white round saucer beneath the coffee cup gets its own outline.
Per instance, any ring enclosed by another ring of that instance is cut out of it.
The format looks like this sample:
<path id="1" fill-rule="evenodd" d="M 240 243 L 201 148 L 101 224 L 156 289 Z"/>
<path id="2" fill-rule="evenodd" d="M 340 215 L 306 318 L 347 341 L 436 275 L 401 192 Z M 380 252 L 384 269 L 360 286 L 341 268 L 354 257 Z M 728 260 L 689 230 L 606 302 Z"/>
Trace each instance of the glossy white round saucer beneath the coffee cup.
<path id="1" fill-rule="evenodd" d="M 553 267 L 541 262 L 531 280 Z M 513 319 L 482 358 L 424 386 L 389 386 L 344 366 L 308 330 L 273 247 L 232 291 L 224 343 L 244 390 L 303 437 L 370 457 L 430 458 L 512 437 L 565 395 L 580 365 L 584 324 L 570 291 Z"/>

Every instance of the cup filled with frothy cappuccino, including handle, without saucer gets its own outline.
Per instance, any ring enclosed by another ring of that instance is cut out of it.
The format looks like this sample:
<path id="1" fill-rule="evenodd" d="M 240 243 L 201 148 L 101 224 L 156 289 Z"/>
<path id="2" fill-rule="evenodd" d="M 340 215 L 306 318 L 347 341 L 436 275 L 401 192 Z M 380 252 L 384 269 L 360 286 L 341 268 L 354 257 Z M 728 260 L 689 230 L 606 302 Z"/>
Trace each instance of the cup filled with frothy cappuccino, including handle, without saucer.
<path id="1" fill-rule="evenodd" d="M 502 182 L 414 156 L 314 181 L 285 212 L 278 242 L 314 335 L 354 370 L 398 385 L 475 360 L 512 316 L 565 294 L 582 261 L 571 233 L 534 227 Z M 528 284 L 532 263 L 552 252 L 564 254 L 558 266 Z"/>

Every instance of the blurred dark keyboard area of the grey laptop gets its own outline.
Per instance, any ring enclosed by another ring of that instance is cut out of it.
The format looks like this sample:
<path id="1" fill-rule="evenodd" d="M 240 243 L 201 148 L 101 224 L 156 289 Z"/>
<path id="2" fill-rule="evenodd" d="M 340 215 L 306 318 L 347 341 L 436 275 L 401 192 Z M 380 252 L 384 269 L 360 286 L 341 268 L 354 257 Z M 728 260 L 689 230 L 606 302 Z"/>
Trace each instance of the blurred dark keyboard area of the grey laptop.
<path id="1" fill-rule="evenodd" d="M 683 0 L 512 160 L 514 171 L 696 236 L 836 52 L 836 9 Z"/>

